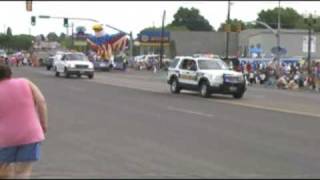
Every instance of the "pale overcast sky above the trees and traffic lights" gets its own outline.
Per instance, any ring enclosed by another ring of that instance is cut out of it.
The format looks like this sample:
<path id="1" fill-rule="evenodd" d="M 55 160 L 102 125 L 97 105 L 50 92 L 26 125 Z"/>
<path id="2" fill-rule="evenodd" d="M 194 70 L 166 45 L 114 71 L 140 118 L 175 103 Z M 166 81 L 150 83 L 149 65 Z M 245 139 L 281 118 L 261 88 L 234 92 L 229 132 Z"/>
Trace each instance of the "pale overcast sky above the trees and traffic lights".
<path id="1" fill-rule="evenodd" d="M 67 33 L 62 19 L 39 19 L 39 15 L 51 17 L 91 18 L 100 23 L 109 24 L 125 32 L 132 32 L 134 37 L 145 27 L 160 27 L 163 11 L 166 11 L 165 24 L 173 21 L 179 7 L 194 7 L 200 11 L 209 23 L 218 29 L 226 20 L 228 1 L 32 1 L 33 11 L 26 11 L 26 1 L 0 2 L 0 32 L 11 27 L 13 34 L 44 34 L 55 32 Z M 300 14 L 317 14 L 320 1 L 281 1 L 281 7 L 294 8 Z M 232 1 L 230 18 L 253 21 L 261 10 L 273 9 L 278 1 Z M 31 26 L 31 16 L 36 16 L 36 25 Z M 74 27 L 85 26 L 93 33 L 90 21 L 69 20 Z M 105 27 L 106 33 L 116 33 Z M 71 29 L 69 29 L 69 34 Z"/>

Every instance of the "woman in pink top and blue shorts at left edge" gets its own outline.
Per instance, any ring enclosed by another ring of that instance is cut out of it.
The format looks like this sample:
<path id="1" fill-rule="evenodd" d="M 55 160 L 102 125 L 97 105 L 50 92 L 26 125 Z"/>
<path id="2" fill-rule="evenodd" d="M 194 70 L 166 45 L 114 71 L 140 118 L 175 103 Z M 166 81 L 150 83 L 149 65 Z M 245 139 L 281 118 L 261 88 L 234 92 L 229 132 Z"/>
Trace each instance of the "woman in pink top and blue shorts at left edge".
<path id="1" fill-rule="evenodd" d="M 29 178 L 40 159 L 47 132 L 47 105 L 39 88 L 24 78 L 11 78 L 0 63 L 0 179 Z"/>

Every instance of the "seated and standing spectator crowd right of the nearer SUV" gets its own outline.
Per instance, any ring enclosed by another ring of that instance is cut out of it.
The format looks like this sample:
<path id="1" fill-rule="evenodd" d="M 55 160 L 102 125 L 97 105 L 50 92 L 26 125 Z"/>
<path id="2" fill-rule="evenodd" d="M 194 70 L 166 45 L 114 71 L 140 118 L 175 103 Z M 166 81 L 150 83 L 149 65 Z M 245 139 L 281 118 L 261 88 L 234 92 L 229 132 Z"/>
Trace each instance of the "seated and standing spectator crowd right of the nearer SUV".
<path id="1" fill-rule="evenodd" d="M 320 61 L 312 62 L 310 73 L 307 63 L 281 63 L 279 68 L 276 67 L 276 63 L 244 63 L 240 68 L 248 85 L 262 84 L 290 90 L 308 88 L 320 92 Z"/>

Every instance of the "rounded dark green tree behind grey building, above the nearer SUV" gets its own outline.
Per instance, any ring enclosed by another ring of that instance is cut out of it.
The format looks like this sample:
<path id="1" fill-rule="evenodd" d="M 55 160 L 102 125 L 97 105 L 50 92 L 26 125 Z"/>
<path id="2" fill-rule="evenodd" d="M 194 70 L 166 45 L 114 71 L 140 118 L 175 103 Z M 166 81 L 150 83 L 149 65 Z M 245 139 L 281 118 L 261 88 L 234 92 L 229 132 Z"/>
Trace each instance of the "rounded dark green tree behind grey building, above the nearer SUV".
<path id="1" fill-rule="evenodd" d="M 174 20 L 169 26 L 185 26 L 191 31 L 212 31 L 213 28 L 209 21 L 200 15 L 199 10 L 195 8 L 183 8 L 174 15 Z"/>

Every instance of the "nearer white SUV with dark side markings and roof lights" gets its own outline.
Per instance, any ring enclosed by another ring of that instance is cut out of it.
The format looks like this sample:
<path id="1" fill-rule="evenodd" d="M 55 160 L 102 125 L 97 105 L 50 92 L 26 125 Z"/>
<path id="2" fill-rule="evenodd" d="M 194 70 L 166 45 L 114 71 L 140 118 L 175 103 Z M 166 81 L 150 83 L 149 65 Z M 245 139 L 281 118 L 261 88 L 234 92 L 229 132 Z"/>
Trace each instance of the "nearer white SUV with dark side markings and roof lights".
<path id="1" fill-rule="evenodd" d="M 194 90 L 203 97 L 219 93 L 239 99 L 246 91 L 243 74 L 230 70 L 217 58 L 176 57 L 168 68 L 167 82 L 172 93 Z"/>

